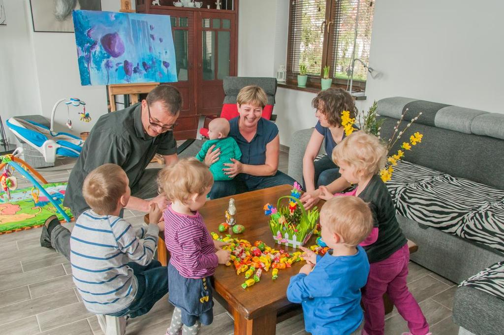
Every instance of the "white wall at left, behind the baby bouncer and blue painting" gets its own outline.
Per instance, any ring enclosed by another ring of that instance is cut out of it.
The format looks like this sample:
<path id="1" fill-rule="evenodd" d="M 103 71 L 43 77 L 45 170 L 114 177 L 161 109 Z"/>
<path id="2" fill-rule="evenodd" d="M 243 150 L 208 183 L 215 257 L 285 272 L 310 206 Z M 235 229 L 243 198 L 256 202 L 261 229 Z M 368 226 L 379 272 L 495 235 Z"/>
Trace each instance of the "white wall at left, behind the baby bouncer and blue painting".
<path id="1" fill-rule="evenodd" d="M 86 102 L 92 121 L 79 120 L 81 107 L 70 108 L 72 133 L 89 131 L 107 113 L 105 86 L 81 86 L 73 33 L 33 32 L 29 0 L 4 0 L 7 26 L 0 26 L 0 108 L 2 119 L 16 115 L 41 114 L 50 119 L 54 103 L 65 97 Z M 134 5 L 133 5 L 134 6 Z M 118 11 L 119 1 L 102 0 L 102 11 Z M 4 51 L 5 50 L 5 51 Z M 4 75 L 5 74 L 5 75 Z M 69 131 L 67 108 L 60 104 L 55 130 Z M 14 135 L 8 131 L 11 140 Z"/>

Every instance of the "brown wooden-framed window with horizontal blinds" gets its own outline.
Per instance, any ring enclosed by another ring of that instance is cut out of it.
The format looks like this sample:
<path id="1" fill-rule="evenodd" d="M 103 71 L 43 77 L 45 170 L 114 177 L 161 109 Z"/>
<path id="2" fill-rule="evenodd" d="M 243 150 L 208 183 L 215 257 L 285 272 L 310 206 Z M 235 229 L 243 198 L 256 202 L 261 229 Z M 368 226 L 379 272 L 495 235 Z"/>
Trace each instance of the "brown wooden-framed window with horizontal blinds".
<path id="1" fill-rule="evenodd" d="M 346 82 L 353 58 L 369 62 L 373 13 L 374 0 L 291 0 L 288 75 L 297 75 L 305 64 L 308 76 L 319 77 L 329 66 L 330 77 Z M 354 61 L 353 80 L 366 80 L 359 61 Z"/>

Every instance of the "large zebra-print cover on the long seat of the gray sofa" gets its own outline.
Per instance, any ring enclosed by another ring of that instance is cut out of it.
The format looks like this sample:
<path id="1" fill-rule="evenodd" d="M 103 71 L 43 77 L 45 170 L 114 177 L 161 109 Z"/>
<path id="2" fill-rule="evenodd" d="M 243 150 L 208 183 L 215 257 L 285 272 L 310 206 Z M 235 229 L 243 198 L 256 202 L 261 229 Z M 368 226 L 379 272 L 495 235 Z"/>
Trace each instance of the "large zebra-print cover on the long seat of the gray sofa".
<path id="1" fill-rule="evenodd" d="M 408 161 L 387 187 L 398 214 L 504 252 L 504 191 Z"/>

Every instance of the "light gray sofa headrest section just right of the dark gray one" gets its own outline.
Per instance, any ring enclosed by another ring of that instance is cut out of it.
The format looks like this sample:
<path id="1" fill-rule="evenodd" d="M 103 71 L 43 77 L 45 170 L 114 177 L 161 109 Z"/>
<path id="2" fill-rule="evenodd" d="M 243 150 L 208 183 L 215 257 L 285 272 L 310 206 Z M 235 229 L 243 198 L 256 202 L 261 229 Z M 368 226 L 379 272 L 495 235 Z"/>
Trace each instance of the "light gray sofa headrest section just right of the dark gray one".
<path id="1" fill-rule="evenodd" d="M 474 118 L 482 114 L 488 114 L 488 112 L 458 106 L 448 106 L 437 111 L 434 117 L 434 125 L 437 128 L 471 134 L 471 124 Z"/>

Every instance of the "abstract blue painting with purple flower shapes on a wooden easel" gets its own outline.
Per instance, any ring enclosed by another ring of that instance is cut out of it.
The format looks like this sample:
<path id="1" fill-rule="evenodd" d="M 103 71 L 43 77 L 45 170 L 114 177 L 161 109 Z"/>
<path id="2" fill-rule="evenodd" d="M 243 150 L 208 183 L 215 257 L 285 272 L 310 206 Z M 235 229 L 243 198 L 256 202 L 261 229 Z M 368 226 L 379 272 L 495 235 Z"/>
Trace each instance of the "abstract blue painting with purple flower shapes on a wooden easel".
<path id="1" fill-rule="evenodd" d="M 168 15 L 74 11 L 81 85 L 176 82 Z"/>

